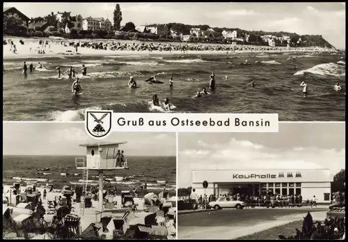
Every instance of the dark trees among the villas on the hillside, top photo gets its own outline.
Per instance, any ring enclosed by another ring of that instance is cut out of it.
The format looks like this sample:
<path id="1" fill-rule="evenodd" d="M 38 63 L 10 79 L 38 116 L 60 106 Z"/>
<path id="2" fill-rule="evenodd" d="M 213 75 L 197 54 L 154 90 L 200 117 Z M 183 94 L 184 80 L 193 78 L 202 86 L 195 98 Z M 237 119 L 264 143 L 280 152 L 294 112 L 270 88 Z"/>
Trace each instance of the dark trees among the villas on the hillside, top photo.
<path id="1" fill-rule="evenodd" d="M 4 15 L 3 16 L 3 34 L 10 36 L 22 36 L 22 37 L 48 37 L 48 36 L 58 36 L 63 38 L 109 38 L 116 40 L 142 40 L 142 41 L 164 41 L 164 42 L 181 42 L 180 36 L 171 36 L 171 34 L 161 34 L 156 35 L 155 33 L 140 33 L 136 30 L 136 26 L 133 22 L 127 22 L 122 29 L 120 29 L 120 21 L 122 20 L 122 13 L 120 13 L 117 8 L 115 10 L 117 22 L 114 22 L 113 29 L 111 31 L 105 31 L 101 29 L 97 30 L 81 30 L 74 28 L 72 23 L 65 22 L 65 25 L 68 24 L 70 28 L 70 33 L 65 33 L 64 29 L 57 28 L 57 25 L 50 25 L 45 29 L 40 27 L 35 27 L 34 29 L 28 29 L 28 27 L 22 25 L 22 20 L 17 15 Z M 35 18 L 35 20 L 41 20 L 40 17 Z M 47 15 L 42 18 L 43 21 L 53 20 L 51 15 Z M 48 24 L 54 24 L 49 21 Z M 64 25 L 64 26 L 65 26 Z M 159 27 L 164 27 L 165 24 L 160 24 Z M 246 31 L 242 29 L 229 29 L 229 28 L 211 28 L 214 31 L 208 31 L 210 29 L 209 25 L 189 25 L 189 24 L 180 24 L 180 23 L 169 23 L 166 24 L 166 29 L 171 29 L 176 33 L 182 33 L 182 35 L 190 35 L 192 28 L 199 28 L 203 31 L 203 37 L 198 37 L 191 35 L 188 43 L 220 43 L 220 44 L 230 44 L 232 40 L 223 38 L 221 33 L 226 31 L 237 31 L 238 38 L 244 38 L 248 35 L 248 42 L 245 40 L 233 40 L 237 44 L 241 45 L 264 45 L 267 46 L 268 43 L 261 40 L 261 36 L 272 35 L 276 37 L 281 36 L 290 36 L 290 46 L 292 47 L 333 47 L 328 43 L 322 36 L 312 36 L 312 35 L 299 35 L 297 33 L 288 33 L 288 32 L 266 32 L 266 31 Z M 119 29 L 120 31 L 114 31 Z M 205 38 L 206 36 L 206 38 Z M 301 43 L 297 43 L 299 38 L 301 38 Z M 287 41 L 276 40 L 276 46 L 287 46 Z"/>

